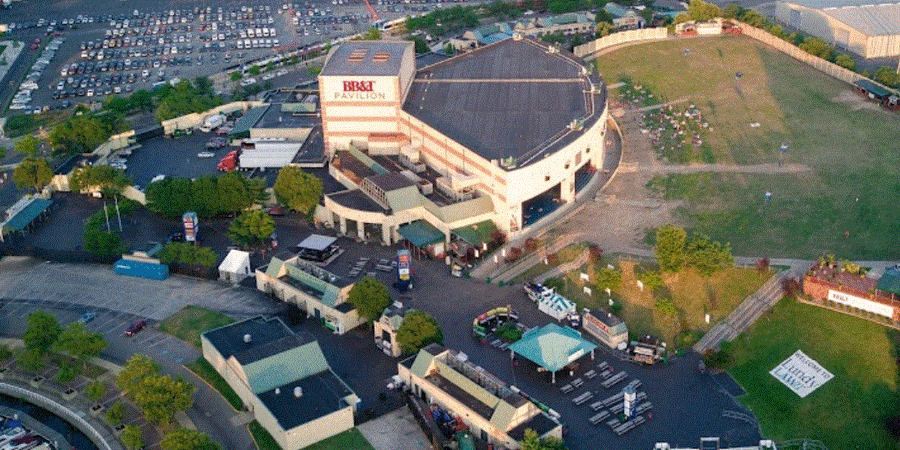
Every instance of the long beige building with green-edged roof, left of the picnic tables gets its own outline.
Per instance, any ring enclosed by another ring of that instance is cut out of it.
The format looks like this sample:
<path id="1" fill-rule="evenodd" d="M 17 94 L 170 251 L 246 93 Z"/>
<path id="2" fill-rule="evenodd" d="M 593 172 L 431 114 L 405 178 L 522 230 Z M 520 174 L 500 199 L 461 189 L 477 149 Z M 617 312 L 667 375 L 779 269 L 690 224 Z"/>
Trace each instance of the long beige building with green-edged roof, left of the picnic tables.
<path id="1" fill-rule="evenodd" d="M 521 448 L 525 430 L 562 438 L 562 425 L 464 354 L 429 345 L 397 364 L 412 392 L 465 423 L 483 441 Z"/>

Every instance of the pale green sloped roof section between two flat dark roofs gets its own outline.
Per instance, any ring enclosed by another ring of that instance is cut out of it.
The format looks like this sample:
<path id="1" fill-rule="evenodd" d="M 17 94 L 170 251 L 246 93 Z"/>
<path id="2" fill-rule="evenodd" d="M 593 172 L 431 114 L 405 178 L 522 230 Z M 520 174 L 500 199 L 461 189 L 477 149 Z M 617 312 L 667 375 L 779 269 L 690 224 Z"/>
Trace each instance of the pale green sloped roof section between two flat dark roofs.
<path id="1" fill-rule="evenodd" d="M 286 350 L 244 366 L 254 394 L 328 370 L 328 362 L 317 341 Z"/>

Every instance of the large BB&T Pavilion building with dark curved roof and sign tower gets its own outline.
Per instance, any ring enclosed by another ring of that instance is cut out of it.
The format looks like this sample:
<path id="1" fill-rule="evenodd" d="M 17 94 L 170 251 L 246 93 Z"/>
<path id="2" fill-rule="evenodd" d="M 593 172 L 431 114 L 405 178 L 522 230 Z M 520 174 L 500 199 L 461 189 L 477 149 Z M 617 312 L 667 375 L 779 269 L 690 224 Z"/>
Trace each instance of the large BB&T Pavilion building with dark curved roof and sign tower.
<path id="1" fill-rule="evenodd" d="M 411 42 L 350 41 L 319 86 L 329 171 L 348 187 L 322 218 L 359 237 L 393 243 L 421 221 L 445 241 L 485 221 L 515 236 L 603 165 L 602 79 L 532 38 L 438 62 L 417 61 Z"/>

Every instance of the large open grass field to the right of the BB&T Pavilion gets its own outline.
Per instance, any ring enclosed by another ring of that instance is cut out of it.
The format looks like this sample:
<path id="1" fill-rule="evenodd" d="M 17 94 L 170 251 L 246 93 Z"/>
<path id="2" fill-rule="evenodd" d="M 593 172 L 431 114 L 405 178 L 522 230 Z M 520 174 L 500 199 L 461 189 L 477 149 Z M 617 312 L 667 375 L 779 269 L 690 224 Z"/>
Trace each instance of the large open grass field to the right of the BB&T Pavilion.
<path id="1" fill-rule="evenodd" d="M 718 163 L 776 163 L 787 143 L 784 161 L 812 169 L 651 180 L 660 197 L 685 201 L 678 214 L 687 226 L 731 242 L 735 254 L 900 256 L 892 200 L 900 194 L 900 115 L 860 108 L 872 104 L 849 85 L 747 37 L 635 45 L 597 65 L 610 83 L 630 76 L 667 100 L 696 105 Z"/>

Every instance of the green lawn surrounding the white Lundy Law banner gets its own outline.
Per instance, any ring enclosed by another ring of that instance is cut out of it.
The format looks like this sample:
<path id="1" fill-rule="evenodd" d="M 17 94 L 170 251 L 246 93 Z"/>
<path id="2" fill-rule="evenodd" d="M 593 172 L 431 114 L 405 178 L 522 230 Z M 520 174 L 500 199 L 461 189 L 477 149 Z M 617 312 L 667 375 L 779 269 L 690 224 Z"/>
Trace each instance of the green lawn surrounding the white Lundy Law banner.
<path id="1" fill-rule="evenodd" d="M 898 339 L 876 323 L 786 299 L 735 341 L 731 374 L 748 392 L 741 402 L 771 439 L 816 439 L 832 450 L 896 449 L 885 424 L 900 415 Z M 797 349 L 834 374 L 806 398 L 769 375 Z"/>

